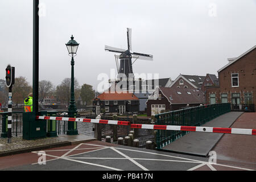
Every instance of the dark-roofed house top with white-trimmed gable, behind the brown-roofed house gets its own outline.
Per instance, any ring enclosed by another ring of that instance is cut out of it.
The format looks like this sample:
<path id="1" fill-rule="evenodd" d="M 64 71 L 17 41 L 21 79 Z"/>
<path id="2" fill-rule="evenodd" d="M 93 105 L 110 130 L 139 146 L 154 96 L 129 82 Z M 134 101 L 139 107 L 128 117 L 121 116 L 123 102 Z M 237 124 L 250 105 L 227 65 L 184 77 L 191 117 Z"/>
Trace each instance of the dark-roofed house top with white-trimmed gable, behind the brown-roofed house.
<path id="1" fill-rule="evenodd" d="M 201 89 L 205 76 L 179 75 L 170 85 L 171 88 Z"/>

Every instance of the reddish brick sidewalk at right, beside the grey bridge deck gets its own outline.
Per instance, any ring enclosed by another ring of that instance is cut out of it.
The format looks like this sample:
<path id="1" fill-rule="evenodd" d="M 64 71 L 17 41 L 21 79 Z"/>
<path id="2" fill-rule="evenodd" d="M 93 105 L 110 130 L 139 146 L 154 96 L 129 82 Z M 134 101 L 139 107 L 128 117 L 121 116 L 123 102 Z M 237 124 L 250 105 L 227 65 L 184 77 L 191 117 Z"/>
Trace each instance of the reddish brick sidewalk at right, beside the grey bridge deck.
<path id="1" fill-rule="evenodd" d="M 231 127 L 256 129 L 256 113 L 243 113 Z M 256 136 L 225 134 L 213 151 L 217 153 L 217 163 L 256 166 Z"/>

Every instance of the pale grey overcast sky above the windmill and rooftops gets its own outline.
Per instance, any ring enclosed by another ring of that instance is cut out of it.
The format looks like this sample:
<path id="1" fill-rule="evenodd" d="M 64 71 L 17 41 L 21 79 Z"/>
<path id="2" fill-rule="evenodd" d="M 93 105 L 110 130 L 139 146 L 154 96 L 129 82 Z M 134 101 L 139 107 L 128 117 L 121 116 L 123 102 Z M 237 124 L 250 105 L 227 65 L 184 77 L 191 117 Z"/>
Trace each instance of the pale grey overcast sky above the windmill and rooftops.
<path id="1" fill-rule="evenodd" d="M 79 84 L 97 89 L 97 76 L 116 70 L 108 46 L 127 49 L 126 28 L 132 28 L 134 52 L 154 61 L 137 60 L 134 73 L 217 75 L 228 58 L 256 44 L 256 0 L 40 0 L 39 80 L 59 85 L 71 77 L 67 43 L 80 43 L 75 57 Z M 7 64 L 15 76 L 32 85 L 32 0 L 0 1 L 0 78 Z M 45 14 L 44 14 L 45 12 Z"/>

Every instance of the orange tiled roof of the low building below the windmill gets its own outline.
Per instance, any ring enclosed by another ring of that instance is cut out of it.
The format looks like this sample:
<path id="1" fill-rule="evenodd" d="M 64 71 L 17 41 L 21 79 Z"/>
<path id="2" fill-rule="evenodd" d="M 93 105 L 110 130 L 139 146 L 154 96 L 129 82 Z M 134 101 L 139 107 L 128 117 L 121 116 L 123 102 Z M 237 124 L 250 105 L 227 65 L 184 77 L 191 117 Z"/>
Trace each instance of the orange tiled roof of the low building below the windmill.
<path id="1" fill-rule="evenodd" d="M 139 100 L 133 93 L 102 93 L 97 98 L 102 101 L 126 101 L 126 100 Z"/>

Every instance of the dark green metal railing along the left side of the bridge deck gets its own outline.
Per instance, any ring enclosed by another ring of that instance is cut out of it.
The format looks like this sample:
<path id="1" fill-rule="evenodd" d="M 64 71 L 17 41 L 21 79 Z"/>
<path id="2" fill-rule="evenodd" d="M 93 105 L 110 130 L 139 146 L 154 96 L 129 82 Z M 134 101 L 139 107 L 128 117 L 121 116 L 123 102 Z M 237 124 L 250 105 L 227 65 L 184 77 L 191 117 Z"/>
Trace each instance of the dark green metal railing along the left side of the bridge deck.
<path id="1" fill-rule="evenodd" d="M 228 113 L 230 110 L 231 106 L 228 103 L 175 110 L 156 114 L 155 125 L 201 126 L 213 118 Z M 161 149 L 188 132 L 189 131 L 156 130 L 156 147 Z"/>

